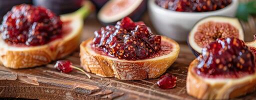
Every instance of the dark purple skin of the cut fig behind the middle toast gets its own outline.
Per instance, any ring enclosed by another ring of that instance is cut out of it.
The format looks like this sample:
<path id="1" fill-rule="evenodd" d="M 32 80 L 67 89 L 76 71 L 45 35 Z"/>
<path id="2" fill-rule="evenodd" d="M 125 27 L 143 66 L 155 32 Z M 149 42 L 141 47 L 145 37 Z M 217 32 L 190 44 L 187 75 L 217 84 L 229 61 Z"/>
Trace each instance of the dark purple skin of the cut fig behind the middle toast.
<path id="1" fill-rule="evenodd" d="M 141 16 L 144 14 L 146 8 L 147 8 L 147 0 L 143 0 L 139 4 L 139 6 L 127 16 L 130 17 L 133 21 L 139 21 Z M 122 18 L 120 18 L 120 19 L 122 19 Z M 106 25 L 114 25 L 120 19 L 116 19 L 116 21 L 114 21 L 114 22 L 103 22 L 101 20 L 99 20 L 99 21 L 100 21 L 101 24 L 106 26 Z"/>

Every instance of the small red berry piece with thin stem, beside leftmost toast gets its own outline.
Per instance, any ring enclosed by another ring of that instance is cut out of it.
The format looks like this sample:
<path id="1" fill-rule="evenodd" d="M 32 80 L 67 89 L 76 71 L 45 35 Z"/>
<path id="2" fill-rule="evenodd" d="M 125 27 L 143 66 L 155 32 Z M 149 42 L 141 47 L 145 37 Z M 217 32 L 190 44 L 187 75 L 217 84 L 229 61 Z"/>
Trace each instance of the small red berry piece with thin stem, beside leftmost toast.
<path id="1" fill-rule="evenodd" d="M 58 60 L 54 67 L 60 72 L 69 73 L 72 71 L 71 62 L 69 60 Z"/>

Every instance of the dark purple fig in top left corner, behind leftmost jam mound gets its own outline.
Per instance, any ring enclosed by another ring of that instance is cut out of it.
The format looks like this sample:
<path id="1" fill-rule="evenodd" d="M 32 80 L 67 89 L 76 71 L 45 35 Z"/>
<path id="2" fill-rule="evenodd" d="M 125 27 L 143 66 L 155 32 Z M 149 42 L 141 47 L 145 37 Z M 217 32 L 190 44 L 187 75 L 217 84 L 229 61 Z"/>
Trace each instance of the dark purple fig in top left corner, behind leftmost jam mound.
<path id="1" fill-rule="evenodd" d="M 0 0 L 0 21 L 3 15 L 5 15 L 12 6 L 22 3 L 32 4 L 32 0 Z"/>

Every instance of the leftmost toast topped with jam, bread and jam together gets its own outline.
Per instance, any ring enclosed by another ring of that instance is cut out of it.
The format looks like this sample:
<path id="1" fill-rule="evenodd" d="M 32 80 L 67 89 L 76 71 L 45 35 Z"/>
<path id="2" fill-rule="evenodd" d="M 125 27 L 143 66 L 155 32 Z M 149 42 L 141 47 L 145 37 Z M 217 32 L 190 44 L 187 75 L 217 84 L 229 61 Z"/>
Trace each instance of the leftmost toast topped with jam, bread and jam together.
<path id="1" fill-rule="evenodd" d="M 81 14 L 59 17 L 41 6 L 13 6 L 0 25 L 0 64 L 33 67 L 69 54 L 79 46 Z"/>

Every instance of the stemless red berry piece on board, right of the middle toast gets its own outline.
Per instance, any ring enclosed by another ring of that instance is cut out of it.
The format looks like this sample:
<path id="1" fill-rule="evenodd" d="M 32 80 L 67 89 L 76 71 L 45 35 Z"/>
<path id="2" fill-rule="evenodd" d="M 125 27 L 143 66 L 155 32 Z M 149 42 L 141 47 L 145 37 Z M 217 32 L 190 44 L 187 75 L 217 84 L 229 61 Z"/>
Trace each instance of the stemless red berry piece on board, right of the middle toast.
<path id="1" fill-rule="evenodd" d="M 158 87 L 162 89 L 169 89 L 176 86 L 177 77 L 169 73 L 160 76 L 160 79 L 156 82 Z"/>

